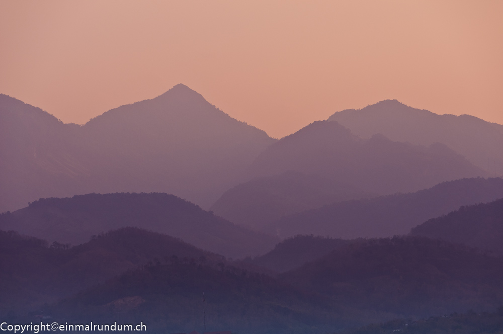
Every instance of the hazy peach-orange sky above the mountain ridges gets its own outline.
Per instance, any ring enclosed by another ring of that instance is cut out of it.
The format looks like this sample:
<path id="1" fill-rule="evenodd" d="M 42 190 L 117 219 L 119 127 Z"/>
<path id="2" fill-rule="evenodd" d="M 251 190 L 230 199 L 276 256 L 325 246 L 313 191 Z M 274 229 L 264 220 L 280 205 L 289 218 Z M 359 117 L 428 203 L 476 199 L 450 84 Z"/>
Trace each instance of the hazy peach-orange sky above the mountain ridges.
<path id="1" fill-rule="evenodd" d="M 183 83 L 290 134 L 384 99 L 503 124 L 503 1 L 2 1 L 0 93 L 64 122 Z"/>

